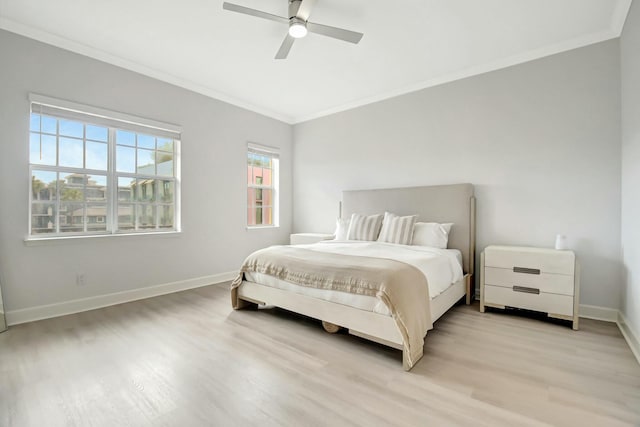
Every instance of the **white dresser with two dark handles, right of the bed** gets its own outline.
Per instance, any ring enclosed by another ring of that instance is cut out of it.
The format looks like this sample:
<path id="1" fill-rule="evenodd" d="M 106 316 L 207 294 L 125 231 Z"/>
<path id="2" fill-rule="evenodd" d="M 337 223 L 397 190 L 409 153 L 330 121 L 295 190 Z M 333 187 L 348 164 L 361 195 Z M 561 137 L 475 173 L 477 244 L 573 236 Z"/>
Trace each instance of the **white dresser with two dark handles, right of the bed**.
<path id="1" fill-rule="evenodd" d="M 515 307 L 571 320 L 578 329 L 580 268 L 572 251 L 487 246 L 480 256 L 480 311 Z"/>

